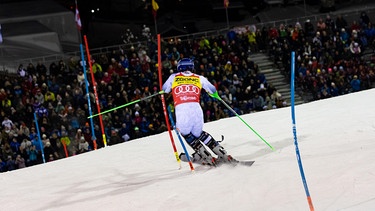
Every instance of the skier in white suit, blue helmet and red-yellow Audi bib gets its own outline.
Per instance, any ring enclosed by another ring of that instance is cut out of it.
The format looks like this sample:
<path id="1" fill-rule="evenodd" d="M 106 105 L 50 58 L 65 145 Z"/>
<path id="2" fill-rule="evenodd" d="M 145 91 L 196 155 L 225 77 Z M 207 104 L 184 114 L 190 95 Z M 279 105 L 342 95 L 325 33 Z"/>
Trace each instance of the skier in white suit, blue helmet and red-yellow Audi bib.
<path id="1" fill-rule="evenodd" d="M 217 90 L 207 78 L 192 73 L 193 70 L 192 60 L 181 59 L 177 63 L 177 73 L 172 73 L 162 87 L 165 93 L 172 92 L 176 128 L 195 151 L 192 154 L 192 162 L 213 166 L 222 162 L 236 162 L 209 133 L 203 131 L 203 110 L 199 102 L 201 90 L 205 89 L 209 94 Z M 217 158 L 213 157 L 203 144 L 211 149 Z M 187 160 L 185 156 L 181 153 L 180 159 Z"/>

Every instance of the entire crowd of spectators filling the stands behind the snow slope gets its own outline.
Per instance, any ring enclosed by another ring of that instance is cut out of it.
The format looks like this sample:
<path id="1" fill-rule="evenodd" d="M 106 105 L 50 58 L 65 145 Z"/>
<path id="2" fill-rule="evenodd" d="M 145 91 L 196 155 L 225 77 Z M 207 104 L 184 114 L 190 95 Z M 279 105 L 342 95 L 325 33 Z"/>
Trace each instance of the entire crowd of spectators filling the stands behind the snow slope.
<path id="1" fill-rule="evenodd" d="M 163 40 L 162 81 L 175 71 L 178 60 L 191 58 L 196 72 L 207 77 L 238 114 L 280 108 L 286 105 L 283 96 L 251 56 L 254 52 L 269 53 L 275 63 L 284 66 L 288 77 L 293 50 L 297 54 L 298 86 L 311 92 L 314 99 L 369 88 L 374 80 L 373 63 L 353 49 L 363 51 L 373 46 L 375 29 L 371 22 L 365 16 L 357 25 L 342 24 L 342 17 L 329 20 L 327 17 L 316 26 L 306 21 L 304 27 L 299 23 L 279 28 L 244 27 L 227 35 Z M 346 38 L 344 32 L 348 33 Z M 94 125 L 87 118 L 98 112 L 96 96 L 100 110 L 106 111 L 159 92 L 157 61 L 157 44 L 151 38 L 128 49 L 94 55 L 90 62 L 96 89 L 89 66 L 83 68 L 80 58 L 75 57 L 47 66 L 42 62 L 21 64 L 16 77 L 1 78 L 0 172 L 104 147 L 99 118 L 93 118 Z M 166 101 L 173 110 L 171 96 L 166 96 Z M 206 93 L 201 102 L 206 122 L 233 115 Z M 159 95 L 103 114 L 102 121 L 108 145 L 167 130 Z"/>

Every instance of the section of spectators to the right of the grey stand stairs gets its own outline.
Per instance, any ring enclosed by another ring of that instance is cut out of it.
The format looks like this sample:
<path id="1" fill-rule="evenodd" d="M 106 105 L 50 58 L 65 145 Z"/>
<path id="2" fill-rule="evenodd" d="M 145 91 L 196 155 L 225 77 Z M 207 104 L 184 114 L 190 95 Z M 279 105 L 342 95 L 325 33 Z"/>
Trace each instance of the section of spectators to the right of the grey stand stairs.
<path id="1" fill-rule="evenodd" d="M 286 77 L 295 52 L 296 84 L 313 100 L 369 89 L 375 81 L 375 28 L 365 12 L 352 22 L 327 15 L 315 24 L 281 24 L 268 34 L 269 53 Z"/>

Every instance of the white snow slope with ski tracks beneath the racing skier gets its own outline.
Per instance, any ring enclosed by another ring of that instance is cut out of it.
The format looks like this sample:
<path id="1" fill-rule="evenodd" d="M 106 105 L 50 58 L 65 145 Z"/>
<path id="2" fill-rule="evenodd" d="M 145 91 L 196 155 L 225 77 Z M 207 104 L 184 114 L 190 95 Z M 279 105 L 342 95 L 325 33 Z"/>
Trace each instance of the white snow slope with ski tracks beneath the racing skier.
<path id="1" fill-rule="evenodd" d="M 315 210 L 375 209 L 375 89 L 296 106 Z M 0 174 L 1 210 L 309 210 L 290 107 L 205 124 L 252 167 L 176 162 L 168 133 Z M 179 152 L 182 148 L 175 136 Z M 190 148 L 189 148 L 190 150 Z M 190 150 L 191 151 L 191 150 Z"/>

